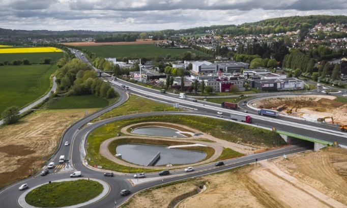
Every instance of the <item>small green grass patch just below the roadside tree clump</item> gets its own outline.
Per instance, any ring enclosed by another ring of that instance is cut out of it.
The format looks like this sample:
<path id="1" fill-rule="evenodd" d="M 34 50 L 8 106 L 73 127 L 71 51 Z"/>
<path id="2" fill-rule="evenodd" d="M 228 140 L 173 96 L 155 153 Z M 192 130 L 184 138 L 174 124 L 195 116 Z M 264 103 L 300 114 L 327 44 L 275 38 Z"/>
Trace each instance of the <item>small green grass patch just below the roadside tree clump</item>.
<path id="1" fill-rule="evenodd" d="M 82 108 L 104 108 L 108 105 L 106 99 L 95 95 L 72 96 L 59 98 L 54 105 L 48 109 L 82 109 Z"/>

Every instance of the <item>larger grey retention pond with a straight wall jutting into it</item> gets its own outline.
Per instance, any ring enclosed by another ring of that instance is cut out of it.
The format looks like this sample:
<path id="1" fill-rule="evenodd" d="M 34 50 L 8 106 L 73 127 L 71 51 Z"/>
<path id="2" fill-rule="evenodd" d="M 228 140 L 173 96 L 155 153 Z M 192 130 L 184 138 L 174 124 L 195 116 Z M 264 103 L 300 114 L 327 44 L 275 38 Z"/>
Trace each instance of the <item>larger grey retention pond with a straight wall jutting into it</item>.
<path id="1" fill-rule="evenodd" d="M 117 154 L 122 154 L 122 159 L 137 165 L 147 166 L 160 152 L 160 159 L 155 164 L 190 164 L 203 160 L 205 152 L 166 148 L 167 146 L 149 144 L 121 144 L 117 146 Z"/>

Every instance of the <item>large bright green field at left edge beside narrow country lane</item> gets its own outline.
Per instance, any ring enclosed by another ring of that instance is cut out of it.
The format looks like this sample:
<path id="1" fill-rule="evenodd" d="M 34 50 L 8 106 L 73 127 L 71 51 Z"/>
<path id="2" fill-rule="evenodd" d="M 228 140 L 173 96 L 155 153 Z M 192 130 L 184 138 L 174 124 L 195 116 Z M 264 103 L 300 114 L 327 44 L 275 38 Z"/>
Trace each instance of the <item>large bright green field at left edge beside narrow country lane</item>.
<path id="1" fill-rule="evenodd" d="M 48 92 L 55 65 L 0 66 L 0 116 L 10 106 L 22 108 Z"/>

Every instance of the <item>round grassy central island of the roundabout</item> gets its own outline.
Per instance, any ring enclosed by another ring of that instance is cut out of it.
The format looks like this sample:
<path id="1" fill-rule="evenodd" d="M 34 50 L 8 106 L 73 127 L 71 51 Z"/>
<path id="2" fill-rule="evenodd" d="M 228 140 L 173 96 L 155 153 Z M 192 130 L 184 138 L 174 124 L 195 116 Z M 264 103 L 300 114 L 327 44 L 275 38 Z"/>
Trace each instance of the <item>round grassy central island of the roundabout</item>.
<path id="1" fill-rule="evenodd" d="M 102 185 L 92 180 L 53 182 L 29 192 L 25 201 L 36 207 L 71 206 L 95 198 L 102 190 Z"/>

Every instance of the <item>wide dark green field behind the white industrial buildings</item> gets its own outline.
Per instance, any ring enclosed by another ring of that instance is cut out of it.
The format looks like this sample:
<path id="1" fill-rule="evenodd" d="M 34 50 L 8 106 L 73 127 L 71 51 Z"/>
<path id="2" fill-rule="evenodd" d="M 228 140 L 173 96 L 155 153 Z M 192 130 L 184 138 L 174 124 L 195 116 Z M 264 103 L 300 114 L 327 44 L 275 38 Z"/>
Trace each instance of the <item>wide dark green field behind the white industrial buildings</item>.
<path id="1" fill-rule="evenodd" d="M 165 57 L 166 54 L 171 54 L 171 57 L 175 57 L 175 55 L 182 55 L 186 51 L 191 51 L 198 56 L 207 55 L 194 49 L 159 48 L 151 44 L 83 46 L 82 48 L 100 57 Z"/>

